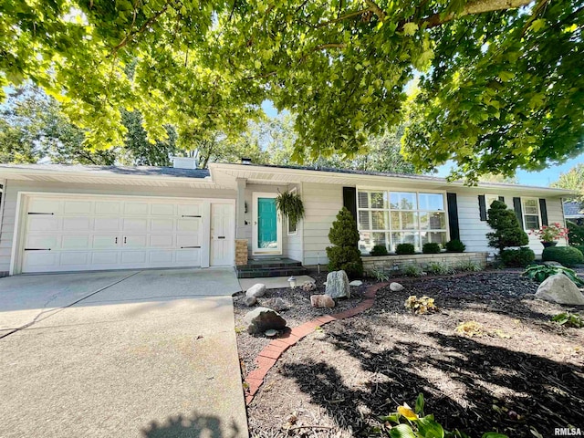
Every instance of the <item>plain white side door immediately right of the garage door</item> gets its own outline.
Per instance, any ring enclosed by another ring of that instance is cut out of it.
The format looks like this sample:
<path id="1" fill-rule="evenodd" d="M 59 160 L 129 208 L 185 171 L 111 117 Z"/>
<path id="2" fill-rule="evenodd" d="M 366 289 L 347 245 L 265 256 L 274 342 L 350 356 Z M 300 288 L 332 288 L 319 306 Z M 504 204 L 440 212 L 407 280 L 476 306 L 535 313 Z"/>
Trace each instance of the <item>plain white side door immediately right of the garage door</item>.
<path id="1" fill-rule="evenodd" d="M 234 205 L 211 204 L 211 266 L 234 264 Z"/>

